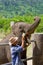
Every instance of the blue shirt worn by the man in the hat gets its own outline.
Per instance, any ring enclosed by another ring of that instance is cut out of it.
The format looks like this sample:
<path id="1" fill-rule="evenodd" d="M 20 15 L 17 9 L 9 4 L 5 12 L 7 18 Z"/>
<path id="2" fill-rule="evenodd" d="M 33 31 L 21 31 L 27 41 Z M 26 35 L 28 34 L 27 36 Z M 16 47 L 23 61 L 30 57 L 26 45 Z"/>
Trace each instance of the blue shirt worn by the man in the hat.
<path id="1" fill-rule="evenodd" d="M 19 45 L 11 46 L 12 65 L 19 65 L 19 62 L 21 62 L 20 58 L 21 51 L 23 51 L 22 46 Z"/>

